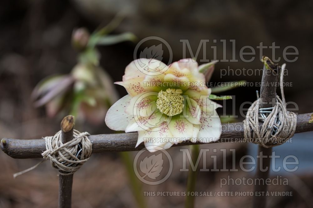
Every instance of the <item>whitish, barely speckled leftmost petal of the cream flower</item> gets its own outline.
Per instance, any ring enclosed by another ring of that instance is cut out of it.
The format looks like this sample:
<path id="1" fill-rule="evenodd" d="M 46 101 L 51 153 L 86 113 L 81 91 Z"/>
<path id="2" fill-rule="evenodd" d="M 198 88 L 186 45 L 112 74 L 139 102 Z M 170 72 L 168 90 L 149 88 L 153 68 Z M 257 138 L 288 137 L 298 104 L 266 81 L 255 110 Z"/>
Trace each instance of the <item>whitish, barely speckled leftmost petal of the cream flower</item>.
<path id="1" fill-rule="evenodd" d="M 134 117 L 125 113 L 125 108 L 131 100 L 130 95 L 126 95 L 119 99 L 115 104 L 111 106 L 105 116 L 106 125 L 115 131 L 125 131 L 128 123 L 130 123 Z"/>

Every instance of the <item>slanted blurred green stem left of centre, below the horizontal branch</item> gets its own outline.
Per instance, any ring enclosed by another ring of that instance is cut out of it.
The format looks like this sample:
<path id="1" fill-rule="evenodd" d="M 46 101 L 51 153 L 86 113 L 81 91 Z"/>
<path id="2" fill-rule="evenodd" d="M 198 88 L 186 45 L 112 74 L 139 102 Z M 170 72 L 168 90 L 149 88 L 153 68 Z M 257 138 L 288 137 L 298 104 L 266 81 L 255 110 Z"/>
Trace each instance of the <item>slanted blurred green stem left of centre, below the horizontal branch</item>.
<path id="1" fill-rule="evenodd" d="M 133 195 L 135 196 L 135 199 L 137 201 L 139 208 L 145 208 L 146 207 L 146 201 L 143 197 L 142 191 L 141 191 L 141 185 L 140 181 L 135 175 L 134 169 L 133 169 L 133 161 L 131 160 L 131 154 L 130 152 L 120 152 L 121 158 L 124 162 L 129 182 L 131 185 L 131 189 L 133 192 Z"/>

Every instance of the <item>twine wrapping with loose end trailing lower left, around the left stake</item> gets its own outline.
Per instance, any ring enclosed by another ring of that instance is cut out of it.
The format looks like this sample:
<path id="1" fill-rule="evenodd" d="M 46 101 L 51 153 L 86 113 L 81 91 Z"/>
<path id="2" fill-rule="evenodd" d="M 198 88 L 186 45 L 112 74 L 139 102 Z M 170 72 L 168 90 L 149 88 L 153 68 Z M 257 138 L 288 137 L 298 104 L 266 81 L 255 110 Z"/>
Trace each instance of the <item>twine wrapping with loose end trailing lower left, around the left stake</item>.
<path id="1" fill-rule="evenodd" d="M 71 175 L 77 171 L 91 156 L 92 143 L 88 132 L 80 133 L 74 129 L 73 139 L 67 143 L 62 143 L 61 131 L 54 136 L 45 137 L 46 151 L 42 153 L 44 160 L 24 171 L 13 174 L 13 177 L 22 175 L 33 170 L 46 160 L 50 160 L 52 167 L 59 169 L 61 175 Z M 77 158 L 79 144 L 82 149 L 80 157 Z"/>

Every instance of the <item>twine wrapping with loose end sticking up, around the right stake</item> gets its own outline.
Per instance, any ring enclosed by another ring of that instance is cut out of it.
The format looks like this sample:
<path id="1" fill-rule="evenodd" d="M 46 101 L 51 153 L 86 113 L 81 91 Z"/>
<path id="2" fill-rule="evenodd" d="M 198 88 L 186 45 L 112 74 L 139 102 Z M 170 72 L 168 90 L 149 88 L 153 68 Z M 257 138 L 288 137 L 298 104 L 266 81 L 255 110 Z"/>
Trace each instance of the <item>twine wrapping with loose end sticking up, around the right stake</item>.
<path id="1" fill-rule="evenodd" d="M 283 89 L 283 70 L 285 64 L 282 66 L 282 72 L 280 75 L 280 91 L 282 99 L 277 95 L 274 109 L 266 117 L 259 116 L 260 99 L 254 101 L 254 103 L 248 109 L 246 119 L 244 120 L 244 138 L 245 140 L 259 143 L 265 148 L 280 145 L 295 134 L 297 126 L 297 116 L 295 113 L 287 111 L 285 106 L 285 95 Z M 276 120 L 276 118 L 278 118 Z M 278 125 L 278 120 L 280 125 Z M 263 124 L 260 125 L 259 121 Z M 277 123 L 275 123 L 277 121 Z M 278 130 L 272 135 L 273 127 L 278 127 Z M 257 138 L 257 139 L 256 139 Z"/>

